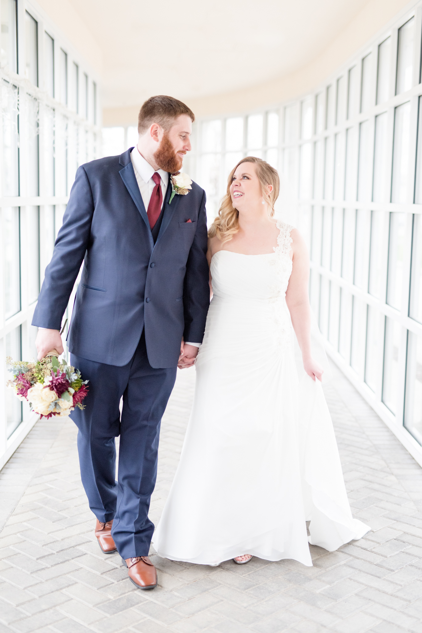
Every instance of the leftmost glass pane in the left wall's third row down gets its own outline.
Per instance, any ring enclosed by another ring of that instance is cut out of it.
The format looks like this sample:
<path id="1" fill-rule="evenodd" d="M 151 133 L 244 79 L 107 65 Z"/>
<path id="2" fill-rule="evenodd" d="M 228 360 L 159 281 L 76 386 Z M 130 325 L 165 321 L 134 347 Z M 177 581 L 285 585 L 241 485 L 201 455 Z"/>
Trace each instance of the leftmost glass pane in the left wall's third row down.
<path id="1" fill-rule="evenodd" d="M 19 207 L 3 207 L 4 317 L 20 311 L 20 213 Z"/>

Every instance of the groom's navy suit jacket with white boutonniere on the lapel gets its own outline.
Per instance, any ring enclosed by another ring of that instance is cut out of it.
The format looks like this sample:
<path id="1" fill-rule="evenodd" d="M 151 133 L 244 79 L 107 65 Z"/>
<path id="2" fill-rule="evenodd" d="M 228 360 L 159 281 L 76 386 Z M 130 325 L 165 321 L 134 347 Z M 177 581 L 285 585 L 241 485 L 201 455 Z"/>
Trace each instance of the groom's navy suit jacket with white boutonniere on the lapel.
<path id="1" fill-rule="evenodd" d="M 176 367 L 182 335 L 202 342 L 209 307 L 205 192 L 166 192 L 156 244 L 130 149 L 78 168 L 32 325 L 60 329 L 77 279 L 70 352 L 126 365 L 145 329 L 152 367 Z M 190 220 L 190 222 L 188 222 Z"/>

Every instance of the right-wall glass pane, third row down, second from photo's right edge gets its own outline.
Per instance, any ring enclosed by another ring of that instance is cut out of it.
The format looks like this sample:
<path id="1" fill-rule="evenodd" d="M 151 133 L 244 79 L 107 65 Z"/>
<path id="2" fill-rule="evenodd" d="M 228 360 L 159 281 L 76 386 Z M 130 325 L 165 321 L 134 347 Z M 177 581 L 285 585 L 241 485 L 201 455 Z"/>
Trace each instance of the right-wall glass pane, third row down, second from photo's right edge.
<path id="1" fill-rule="evenodd" d="M 387 303 L 400 310 L 403 285 L 403 251 L 406 213 L 390 213 L 388 241 Z"/>

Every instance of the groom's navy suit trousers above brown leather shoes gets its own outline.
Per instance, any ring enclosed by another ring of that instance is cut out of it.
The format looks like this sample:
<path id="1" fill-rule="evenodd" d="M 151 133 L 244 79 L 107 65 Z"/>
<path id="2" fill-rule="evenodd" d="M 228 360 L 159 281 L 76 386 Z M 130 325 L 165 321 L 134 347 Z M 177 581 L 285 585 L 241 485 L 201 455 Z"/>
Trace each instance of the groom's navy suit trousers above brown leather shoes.
<path id="1" fill-rule="evenodd" d="M 148 511 L 157 477 L 159 430 L 177 368 L 151 367 L 144 331 L 123 367 L 74 354 L 70 361 L 89 380 L 85 409 L 71 413 L 78 427 L 80 472 L 89 507 L 99 521 L 114 519 L 112 535 L 122 558 L 147 556 L 154 532 Z"/>

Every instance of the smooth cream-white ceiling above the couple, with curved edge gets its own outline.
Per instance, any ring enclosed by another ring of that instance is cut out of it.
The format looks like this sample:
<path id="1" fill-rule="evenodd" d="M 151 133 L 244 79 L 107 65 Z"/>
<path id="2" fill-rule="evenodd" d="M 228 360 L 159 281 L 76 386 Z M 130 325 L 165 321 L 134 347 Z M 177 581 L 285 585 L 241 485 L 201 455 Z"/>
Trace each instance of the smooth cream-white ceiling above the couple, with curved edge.
<path id="1" fill-rule="evenodd" d="M 368 0 L 70 0 L 103 54 L 106 108 L 251 87 L 306 65 Z"/>

